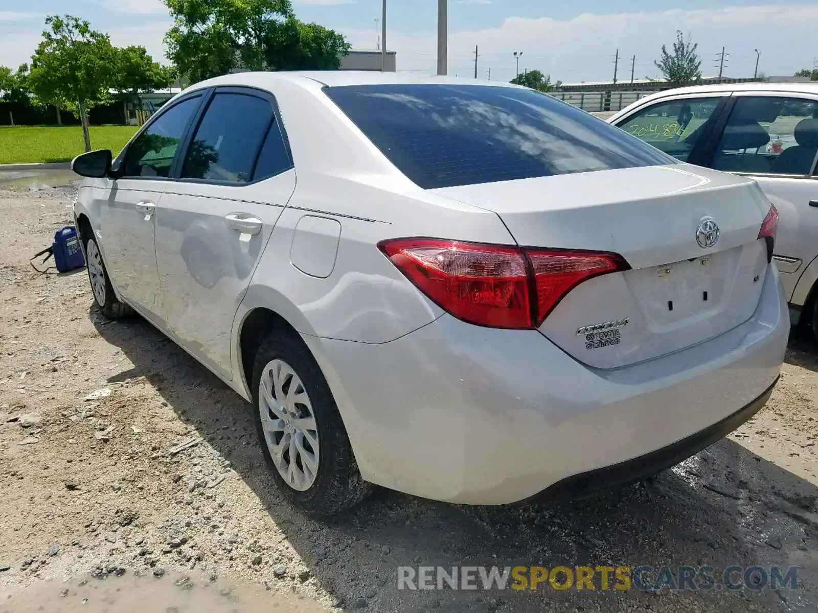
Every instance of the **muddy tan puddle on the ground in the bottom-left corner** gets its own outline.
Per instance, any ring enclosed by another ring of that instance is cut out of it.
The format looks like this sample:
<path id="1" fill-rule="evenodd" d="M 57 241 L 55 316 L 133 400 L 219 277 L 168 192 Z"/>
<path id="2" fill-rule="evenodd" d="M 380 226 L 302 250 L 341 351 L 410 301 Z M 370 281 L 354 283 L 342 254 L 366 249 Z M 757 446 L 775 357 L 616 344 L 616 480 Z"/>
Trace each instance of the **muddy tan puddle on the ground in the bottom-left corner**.
<path id="1" fill-rule="evenodd" d="M 210 580 L 215 579 L 215 580 Z M 43 581 L 11 594 L 0 593 L 0 613 L 234 613 L 280 611 L 324 613 L 320 603 L 299 594 L 286 597 L 263 585 L 230 582 L 197 575 L 125 571 L 106 579 L 91 576 L 68 581 Z"/>

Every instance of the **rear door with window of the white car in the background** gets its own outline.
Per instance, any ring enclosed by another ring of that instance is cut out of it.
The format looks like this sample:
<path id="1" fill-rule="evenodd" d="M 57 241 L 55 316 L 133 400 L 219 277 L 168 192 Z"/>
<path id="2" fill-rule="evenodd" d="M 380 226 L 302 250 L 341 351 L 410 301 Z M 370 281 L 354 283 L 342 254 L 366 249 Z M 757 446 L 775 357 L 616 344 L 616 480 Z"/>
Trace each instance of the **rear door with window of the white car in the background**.
<path id="1" fill-rule="evenodd" d="M 786 296 L 800 305 L 797 285 L 818 255 L 818 96 L 741 94 L 731 106 L 710 166 L 753 177 L 778 208 L 775 261 Z"/>

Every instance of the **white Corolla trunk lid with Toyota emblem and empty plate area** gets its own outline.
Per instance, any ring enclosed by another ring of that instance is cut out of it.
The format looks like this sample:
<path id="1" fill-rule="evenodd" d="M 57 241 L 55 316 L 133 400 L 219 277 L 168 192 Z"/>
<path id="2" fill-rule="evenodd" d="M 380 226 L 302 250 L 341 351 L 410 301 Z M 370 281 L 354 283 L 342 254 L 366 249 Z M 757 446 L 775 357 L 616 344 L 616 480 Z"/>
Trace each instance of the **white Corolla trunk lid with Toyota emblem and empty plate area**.
<path id="1" fill-rule="evenodd" d="M 631 365 L 716 337 L 760 298 L 770 204 L 752 180 L 678 164 L 433 191 L 496 212 L 521 246 L 625 258 L 631 270 L 579 284 L 539 328 L 587 365 Z"/>

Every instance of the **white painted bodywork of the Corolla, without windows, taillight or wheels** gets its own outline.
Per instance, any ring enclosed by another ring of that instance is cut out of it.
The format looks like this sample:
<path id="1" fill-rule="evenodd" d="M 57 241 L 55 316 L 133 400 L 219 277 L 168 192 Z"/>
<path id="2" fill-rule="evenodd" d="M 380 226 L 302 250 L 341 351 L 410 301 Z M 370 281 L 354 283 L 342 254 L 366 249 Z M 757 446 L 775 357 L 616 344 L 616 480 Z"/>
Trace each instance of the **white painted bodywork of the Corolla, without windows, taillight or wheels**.
<path id="1" fill-rule="evenodd" d="M 189 88 L 271 92 L 294 168 L 245 186 L 83 181 L 74 215 L 119 299 L 247 400 L 243 326 L 259 309 L 280 315 L 317 360 L 362 477 L 456 503 L 526 499 L 766 400 L 789 315 L 755 181 L 667 163 L 422 189 L 324 91 L 383 83 L 510 88 L 345 72 Z M 705 249 L 707 217 L 720 236 Z M 377 247 L 402 237 L 598 250 L 629 266 L 578 284 L 539 326 L 498 329 L 447 313 Z M 587 350 L 578 329 L 623 319 L 621 342 Z"/>

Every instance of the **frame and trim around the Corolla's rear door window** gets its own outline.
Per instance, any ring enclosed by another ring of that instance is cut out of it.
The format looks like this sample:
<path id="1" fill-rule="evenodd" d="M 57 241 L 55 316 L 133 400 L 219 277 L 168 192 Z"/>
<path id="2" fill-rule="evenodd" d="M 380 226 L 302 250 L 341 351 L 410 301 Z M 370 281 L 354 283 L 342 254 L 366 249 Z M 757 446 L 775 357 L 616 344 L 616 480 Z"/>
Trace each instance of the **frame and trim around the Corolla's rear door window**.
<path id="1" fill-rule="evenodd" d="M 213 101 L 213 97 L 217 94 L 238 94 L 240 96 L 254 96 L 259 98 L 263 101 L 268 102 L 272 108 L 272 116 L 270 121 L 267 123 L 267 128 L 264 129 L 263 134 L 264 136 L 258 142 L 258 146 L 255 150 L 255 154 L 253 157 L 252 163 L 252 172 L 250 177 L 253 176 L 255 172 L 256 166 L 258 166 L 258 159 L 261 156 L 261 152 L 264 146 L 264 142 L 267 140 L 267 136 L 269 135 L 271 130 L 277 129 L 281 138 L 284 140 L 284 145 L 287 150 L 287 158 L 289 159 L 290 165 L 287 168 L 282 168 L 280 172 L 270 176 L 264 177 L 263 179 L 257 179 L 255 181 L 247 181 L 246 183 L 236 183 L 234 181 L 218 181 L 216 179 L 194 179 L 188 177 L 181 177 L 182 174 L 182 164 L 184 160 L 187 158 L 187 150 L 190 148 L 191 143 L 193 141 L 193 137 L 196 135 L 196 131 L 199 129 L 202 119 L 205 118 L 205 113 L 209 108 L 210 103 Z M 277 128 L 276 128 L 277 127 Z M 181 150 L 181 154 L 178 159 L 175 159 L 173 162 L 173 167 L 171 168 L 171 172 L 168 177 L 168 181 L 173 183 L 196 183 L 196 184 L 204 184 L 204 185 L 215 185 L 215 186 L 227 186 L 227 187 L 246 187 L 252 186 L 255 183 L 261 181 L 267 181 L 267 179 L 271 179 L 272 177 L 278 177 L 279 175 L 293 170 L 294 163 L 293 163 L 293 154 L 292 150 L 290 150 L 290 141 L 287 138 L 287 134 L 284 128 L 283 123 L 281 122 L 281 114 L 279 112 L 279 107 L 276 102 L 276 96 L 273 96 L 271 92 L 267 92 L 263 89 L 258 89 L 256 87 L 240 87 L 240 86 L 231 86 L 225 85 L 222 87 L 212 87 L 209 89 L 208 95 L 206 96 L 206 100 L 200 105 L 198 112 L 196 113 L 195 120 L 191 123 L 188 127 L 185 138 L 183 139 L 181 145 L 179 146 Z"/>

